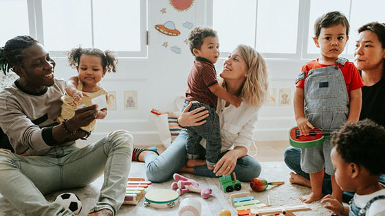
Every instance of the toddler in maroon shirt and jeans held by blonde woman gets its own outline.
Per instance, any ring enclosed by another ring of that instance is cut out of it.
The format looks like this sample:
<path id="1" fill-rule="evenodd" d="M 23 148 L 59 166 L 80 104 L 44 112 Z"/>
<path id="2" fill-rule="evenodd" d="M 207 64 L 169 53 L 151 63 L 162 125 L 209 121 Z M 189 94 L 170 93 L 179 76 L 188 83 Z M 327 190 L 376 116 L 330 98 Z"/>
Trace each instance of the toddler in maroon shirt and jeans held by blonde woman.
<path id="1" fill-rule="evenodd" d="M 203 119 L 206 120 L 206 123 L 187 128 L 186 151 L 188 160 L 186 166 L 203 165 L 194 159 L 199 158 L 198 145 L 204 138 L 207 141 L 206 165 L 208 169 L 214 169 L 214 165 L 219 160 L 222 146 L 219 117 L 216 112 L 218 97 L 236 107 L 241 105 L 241 100 L 225 91 L 225 88 L 218 84 L 217 72 L 214 68 L 214 63 L 219 58 L 217 32 L 210 27 L 196 27 L 190 32 L 188 40 L 195 61 L 188 75 L 188 89 L 183 110 L 191 103 L 187 111 L 204 106 L 209 111 L 209 116 Z"/>

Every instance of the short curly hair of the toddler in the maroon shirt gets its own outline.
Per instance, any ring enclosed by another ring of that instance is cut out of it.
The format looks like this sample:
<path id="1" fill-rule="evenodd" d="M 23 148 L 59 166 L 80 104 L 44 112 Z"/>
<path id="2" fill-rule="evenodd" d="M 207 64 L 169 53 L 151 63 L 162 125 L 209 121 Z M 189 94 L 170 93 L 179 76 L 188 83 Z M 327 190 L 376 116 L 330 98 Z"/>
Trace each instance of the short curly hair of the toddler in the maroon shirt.
<path id="1" fill-rule="evenodd" d="M 188 46 L 192 55 L 194 55 L 193 49 L 201 49 L 203 39 L 207 37 L 216 37 L 217 31 L 211 27 L 195 27 L 188 35 Z"/>

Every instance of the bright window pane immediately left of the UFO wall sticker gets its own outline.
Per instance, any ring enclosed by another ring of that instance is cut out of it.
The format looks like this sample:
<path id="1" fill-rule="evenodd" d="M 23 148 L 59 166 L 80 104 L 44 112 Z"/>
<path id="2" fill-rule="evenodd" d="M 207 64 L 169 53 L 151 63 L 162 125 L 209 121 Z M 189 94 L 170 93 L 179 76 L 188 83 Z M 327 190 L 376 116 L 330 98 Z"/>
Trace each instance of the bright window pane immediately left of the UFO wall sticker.
<path id="1" fill-rule="evenodd" d="M 94 0 L 94 44 L 102 50 L 140 51 L 140 0 Z"/>

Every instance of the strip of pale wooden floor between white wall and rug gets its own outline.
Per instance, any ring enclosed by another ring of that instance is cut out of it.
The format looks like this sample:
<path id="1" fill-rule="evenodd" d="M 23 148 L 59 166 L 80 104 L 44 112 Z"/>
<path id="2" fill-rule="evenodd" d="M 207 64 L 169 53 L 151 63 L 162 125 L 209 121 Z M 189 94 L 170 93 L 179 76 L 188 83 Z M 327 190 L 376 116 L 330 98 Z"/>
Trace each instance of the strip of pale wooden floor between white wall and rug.
<path id="1" fill-rule="evenodd" d="M 249 155 L 254 156 L 258 161 L 283 161 L 283 152 L 285 152 L 288 146 L 288 141 L 256 141 L 258 151 L 256 151 L 254 145 L 252 145 L 250 146 Z M 147 146 L 135 147 L 146 148 Z M 164 152 L 164 149 L 164 145 L 157 145 L 159 154 Z"/>

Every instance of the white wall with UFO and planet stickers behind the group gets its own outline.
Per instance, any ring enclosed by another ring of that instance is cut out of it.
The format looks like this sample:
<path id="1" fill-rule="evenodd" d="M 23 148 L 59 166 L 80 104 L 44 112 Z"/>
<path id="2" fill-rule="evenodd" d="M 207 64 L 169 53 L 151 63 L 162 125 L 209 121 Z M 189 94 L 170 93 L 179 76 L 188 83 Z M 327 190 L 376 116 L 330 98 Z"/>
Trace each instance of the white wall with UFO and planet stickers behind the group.
<path id="1" fill-rule="evenodd" d="M 166 8 L 166 13 L 162 13 Z M 135 143 L 151 145 L 160 143 L 151 108 L 158 110 L 176 110 L 175 99 L 184 95 L 188 73 L 193 56 L 184 43 L 190 29 L 183 27 L 186 21 L 194 26 L 205 23 L 206 0 L 195 0 L 186 11 L 177 11 L 168 0 L 148 1 L 148 58 L 120 58 L 117 73 L 109 73 L 102 80 L 107 91 L 116 92 L 116 110 L 109 110 L 106 119 L 99 120 L 96 132 L 89 138 L 94 141 L 111 130 L 124 129 L 133 133 Z M 173 21 L 181 34 L 166 36 L 154 26 Z M 220 40 L 219 35 L 219 40 Z M 236 38 L 234 39 L 236 40 Z M 164 42 L 168 47 L 162 46 Z M 177 54 L 170 47 L 177 45 L 181 53 Z M 68 67 L 65 58 L 56 58 L 56 77 L 67 79 L 76 74 Z M 221 72 L 224 59 L 217 62 L 217 72 Z M 259 141 L 287 140 L 289 128 L 295 125 L 292 97 L 294 80 L 305 61 L 267 60 L 270 75 L 270 87 L 276 88 L 276 99 L 280 88 L 291 88 L 290 104 L 263 106 L 256 125 Z M 124 110 L 124 91 L 137 91 L 137 110 Z"/>

